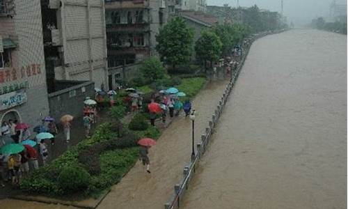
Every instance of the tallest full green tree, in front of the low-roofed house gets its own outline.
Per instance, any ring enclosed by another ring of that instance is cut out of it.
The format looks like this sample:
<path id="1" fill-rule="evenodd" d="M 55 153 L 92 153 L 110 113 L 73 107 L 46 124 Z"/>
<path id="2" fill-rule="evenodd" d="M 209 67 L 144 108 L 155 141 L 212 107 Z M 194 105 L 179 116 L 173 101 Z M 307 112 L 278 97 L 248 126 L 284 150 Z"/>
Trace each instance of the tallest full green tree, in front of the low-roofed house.
<path id="1" fill-rule="evenodd" d="M 174 17 L 159 30 L 156 37 L 156 49 L 161 60 L 172 65 L 173 69 L 175 65 L 189 61 L 193 49 L 193 35 L 193 30 L 187 27 L 182 17 Z"/>

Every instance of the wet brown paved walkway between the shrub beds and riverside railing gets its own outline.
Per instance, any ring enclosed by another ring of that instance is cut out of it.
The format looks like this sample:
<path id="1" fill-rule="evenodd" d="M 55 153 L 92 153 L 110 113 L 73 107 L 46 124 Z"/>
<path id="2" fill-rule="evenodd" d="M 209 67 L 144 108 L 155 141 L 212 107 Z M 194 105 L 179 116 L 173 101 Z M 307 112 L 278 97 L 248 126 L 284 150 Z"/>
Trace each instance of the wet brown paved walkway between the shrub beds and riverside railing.
<path id="1" fill-rule="evenodd" d="M 193 100 L 193 108 L 196 109 L 196 141 L 211 119 L 226 84 L 227 81 L 210 82 Z M 161 122 L 157 122 L 163 128 Z M 146 173 L 143 165 L 137 162 L 120 183 L 112 187 L 98 208 L 164 208 L 164 203 L 173 194 L 173 186 L 182 178 L 184 162 L 190 161 L 191 143 L 191 121 L 181 113 L 163 131 L 156 146 L 150 148 L 152 173 Z M 8 199 L 0 200 L 0 205 L 1 208 L 54 207 L 44 203 Z M 57 207 L 65 208 L 60 205 Z"/>

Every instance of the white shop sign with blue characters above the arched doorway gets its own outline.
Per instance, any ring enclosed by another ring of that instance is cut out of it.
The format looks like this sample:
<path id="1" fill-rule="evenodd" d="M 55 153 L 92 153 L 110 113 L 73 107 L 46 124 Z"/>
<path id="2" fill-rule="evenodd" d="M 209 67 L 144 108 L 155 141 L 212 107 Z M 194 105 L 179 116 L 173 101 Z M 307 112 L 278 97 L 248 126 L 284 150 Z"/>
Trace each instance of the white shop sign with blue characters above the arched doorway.
<path id="1" fill-rule="evenodd" d="M 24 89 L 0 95 L 0 111 L 24 104 L 27 100 Z"/>

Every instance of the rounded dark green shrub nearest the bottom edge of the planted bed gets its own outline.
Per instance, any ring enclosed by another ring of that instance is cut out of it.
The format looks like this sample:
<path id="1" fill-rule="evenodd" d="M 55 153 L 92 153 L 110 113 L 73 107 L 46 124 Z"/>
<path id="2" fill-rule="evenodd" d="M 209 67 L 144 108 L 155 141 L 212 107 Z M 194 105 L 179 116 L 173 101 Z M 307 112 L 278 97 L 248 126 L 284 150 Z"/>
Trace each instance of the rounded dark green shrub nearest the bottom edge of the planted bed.
<path id="1" fill-rule="evenodd" d="M 58 183 L 65 194 L 84 191 L 90 184 L 90 174 L 77 165 L 64 167 L 58 177 Z"/>

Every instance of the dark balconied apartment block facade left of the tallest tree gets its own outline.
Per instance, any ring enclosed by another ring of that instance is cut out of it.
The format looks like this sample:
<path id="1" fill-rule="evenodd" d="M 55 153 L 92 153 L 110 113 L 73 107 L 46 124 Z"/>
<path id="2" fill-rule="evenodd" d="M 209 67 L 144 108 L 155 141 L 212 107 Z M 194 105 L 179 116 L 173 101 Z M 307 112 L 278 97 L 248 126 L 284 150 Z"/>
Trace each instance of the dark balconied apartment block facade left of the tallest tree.
<path id="1" fill-rule="evenodd" d="M 109 81 L 122 79 L 124 65 L 157 55 L 156 36 L 166 23 L 164 0 L 106 0 L 106 45 Z M 111 87 L 111 85 L 109 85 Z"/>

